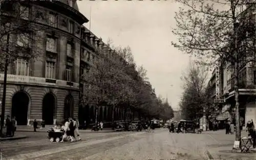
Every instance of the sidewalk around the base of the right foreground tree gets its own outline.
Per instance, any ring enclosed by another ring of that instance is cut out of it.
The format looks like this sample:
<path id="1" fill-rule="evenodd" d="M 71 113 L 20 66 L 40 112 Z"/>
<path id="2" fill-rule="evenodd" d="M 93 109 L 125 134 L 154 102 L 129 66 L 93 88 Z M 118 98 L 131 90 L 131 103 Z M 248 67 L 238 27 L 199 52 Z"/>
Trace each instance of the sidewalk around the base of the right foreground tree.
<path id="1" fill-rule="evenodd" d="M 202 134 L 209 134 L 209 137 L 215 141 L 214 144 L 207 146 L 207 150 L 211 159 L 255 159 L 256 150 L 252 147 L 250 148 L 251 152 L 241 153 L 241 152 L 232 152 L 232 147 L 234 144 L 235 135 L 226 135 L 225 130 L 217 131 L 204 131 Z M 241 131 L 241 137 L 247 136 L 245 130 Z"/>

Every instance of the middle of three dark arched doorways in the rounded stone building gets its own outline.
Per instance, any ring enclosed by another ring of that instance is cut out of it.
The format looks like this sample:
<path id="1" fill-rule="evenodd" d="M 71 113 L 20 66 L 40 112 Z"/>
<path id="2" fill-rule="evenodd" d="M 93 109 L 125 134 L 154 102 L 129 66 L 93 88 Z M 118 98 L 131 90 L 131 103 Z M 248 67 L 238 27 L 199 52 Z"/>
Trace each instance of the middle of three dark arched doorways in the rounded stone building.
<path id="1" fill-rule="evenodd" d="M 45 120 L 47 125 L 53 124 L 55 116 L 56 100 L 52 93 L 47 93 L 42 100 L 42 120 Z"/>

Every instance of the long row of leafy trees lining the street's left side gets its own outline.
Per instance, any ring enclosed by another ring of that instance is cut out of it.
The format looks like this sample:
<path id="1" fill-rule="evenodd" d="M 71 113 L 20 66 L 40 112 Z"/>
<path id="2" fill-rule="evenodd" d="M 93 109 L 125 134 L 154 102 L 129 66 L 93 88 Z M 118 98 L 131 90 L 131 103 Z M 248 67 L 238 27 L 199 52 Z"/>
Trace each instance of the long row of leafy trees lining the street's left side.
<path id="1" fill-rule="evenodd" d="M 173 117 L 173 109 L 168 102 L 155 95 L 151 84 L 146 81 L 146 70 L 137 67 L 130 47 L 108 47 L 98 50 L 98 58 L 89 73 L 82 76 L 84 82 L 81 102 L 96 104 L 95 122 L 99 117 L 99 107 L 109 106 L 112 122 L 115 109 L 127 109 L 139 113 L 139 117 Z M 102 116 L 102 115 L 100 115 Z M 123 120 L 126 120 L 124 117 Z"/>

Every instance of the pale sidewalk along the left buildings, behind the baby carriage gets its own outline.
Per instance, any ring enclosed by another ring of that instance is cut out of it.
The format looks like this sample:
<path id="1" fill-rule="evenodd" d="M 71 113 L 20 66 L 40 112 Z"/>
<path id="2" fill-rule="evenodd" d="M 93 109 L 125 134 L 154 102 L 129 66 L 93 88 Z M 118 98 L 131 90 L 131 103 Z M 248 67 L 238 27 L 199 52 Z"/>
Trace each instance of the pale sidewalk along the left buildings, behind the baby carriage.
<path id="1" fill-rule="evenodd" d="M 47 132 L 51 127 L 53 127 L 53 125 L 46 125 L 45 128 L 37 128 L 36 131 L 37 132 Z M 33 126 L 27 126 L 27 125 L 20 125 L 17 126 L 16 131 L 23 131 L 23 132 L 33 132 L 34 128 Z M 103 128 L 103 130 L 99 130 L 99 131 L 92 131 L 90 128 L 89 129 L 79 129 L 80 132 L 114 132 L 114 130 L 112 130 L 112 128 Z"/>

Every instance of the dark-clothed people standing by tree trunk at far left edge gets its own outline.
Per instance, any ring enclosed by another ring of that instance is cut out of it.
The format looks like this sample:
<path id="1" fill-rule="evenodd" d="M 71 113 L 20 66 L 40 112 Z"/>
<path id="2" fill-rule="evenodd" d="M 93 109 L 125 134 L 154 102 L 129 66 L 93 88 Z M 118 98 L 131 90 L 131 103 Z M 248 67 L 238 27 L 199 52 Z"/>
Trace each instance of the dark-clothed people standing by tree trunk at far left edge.
<path id="1" fill-rule="evenodd" d="M 1 123 L 1 117 L 0 117 L 0 123 Z M 6 119 L 4 120 L 4 128 L 6 128 L 6 136 L 7 137 L 13 137 L 14 133 L 17 128 L 17 121 L 15 117 L 10 118 L 9 115 L 7 115 Z"/>

